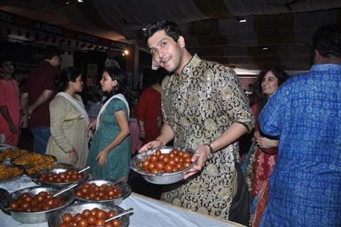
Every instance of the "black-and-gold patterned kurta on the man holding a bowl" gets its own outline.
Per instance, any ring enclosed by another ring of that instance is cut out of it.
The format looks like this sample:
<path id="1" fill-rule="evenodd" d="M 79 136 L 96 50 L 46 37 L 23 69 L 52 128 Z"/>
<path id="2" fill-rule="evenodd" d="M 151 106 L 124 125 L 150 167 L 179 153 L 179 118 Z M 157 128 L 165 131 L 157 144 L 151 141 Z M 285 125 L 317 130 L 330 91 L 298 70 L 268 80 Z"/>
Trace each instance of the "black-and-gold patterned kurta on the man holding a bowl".
<path id="1" fill-rule="evenodd" d="M 174 145 L 193 149 L 211 143 L 233 122 L 250 131 L 255 120 L 235 72 L 196 55 L 182 70 L 181 79 L 177 75 L 164 79 L 162 115 L 175 133 Z M 199 174 L 168 185 L 162 200 L 228 219 L 237 160 L 238 145 L 232 143 L 214 153 Z"/>

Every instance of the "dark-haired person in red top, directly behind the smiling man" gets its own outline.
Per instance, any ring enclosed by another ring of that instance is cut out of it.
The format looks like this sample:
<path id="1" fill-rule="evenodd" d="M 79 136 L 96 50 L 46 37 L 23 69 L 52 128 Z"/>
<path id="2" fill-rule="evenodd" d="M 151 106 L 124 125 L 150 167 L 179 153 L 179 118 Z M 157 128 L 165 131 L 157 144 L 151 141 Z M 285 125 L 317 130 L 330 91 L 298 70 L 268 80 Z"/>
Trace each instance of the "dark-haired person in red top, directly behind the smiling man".
<path id="1" fill-rule="evenodd" d="M 166 72 L 162 68 L 152 70 L 147 77 L 150 78 L 150 87 L 147 87 L 140 96 L 138 103 L 138 126 L 140 128 L 140 139 L 143 143 L 155 140 L 160 135 L 162 126 L 161 113 L 161 84 Z"/>

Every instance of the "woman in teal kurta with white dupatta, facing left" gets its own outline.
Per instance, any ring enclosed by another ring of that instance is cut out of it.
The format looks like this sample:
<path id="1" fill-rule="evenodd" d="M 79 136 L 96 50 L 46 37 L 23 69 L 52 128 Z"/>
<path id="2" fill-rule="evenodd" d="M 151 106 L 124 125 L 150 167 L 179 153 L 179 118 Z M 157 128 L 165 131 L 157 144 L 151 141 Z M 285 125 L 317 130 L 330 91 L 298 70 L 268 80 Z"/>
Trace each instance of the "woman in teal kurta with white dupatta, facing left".
<path id="1" fill-rule="evenodd" d="M 87 165 L 94 178 L 128 179 L 130 166 L 129 107 L 123 94 L 123 72 L 118 67 L 104 70 L 101 87 L 108 93 L 96 121 Z"/>

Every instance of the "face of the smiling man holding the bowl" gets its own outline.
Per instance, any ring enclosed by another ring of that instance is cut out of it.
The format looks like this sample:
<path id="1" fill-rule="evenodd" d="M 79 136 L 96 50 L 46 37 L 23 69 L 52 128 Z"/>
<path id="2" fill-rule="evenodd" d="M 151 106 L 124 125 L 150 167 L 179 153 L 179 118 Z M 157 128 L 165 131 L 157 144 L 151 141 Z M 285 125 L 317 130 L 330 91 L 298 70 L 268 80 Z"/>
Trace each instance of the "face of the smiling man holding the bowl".
<path id="1" fill-rule="evenodd" d="M 181 63 L 181 46 L 169 37 L 164 30 L 157 31 L 147 40 L 153 60 L 168 72 L 179 69 Z"/>

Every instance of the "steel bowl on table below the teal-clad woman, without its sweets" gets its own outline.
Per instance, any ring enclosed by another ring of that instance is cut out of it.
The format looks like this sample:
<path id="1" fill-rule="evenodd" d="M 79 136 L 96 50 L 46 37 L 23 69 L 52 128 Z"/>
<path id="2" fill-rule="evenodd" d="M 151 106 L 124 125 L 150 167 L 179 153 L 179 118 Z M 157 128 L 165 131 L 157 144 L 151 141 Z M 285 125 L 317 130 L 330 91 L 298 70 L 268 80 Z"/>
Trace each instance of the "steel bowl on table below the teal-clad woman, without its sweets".
<path id="1" fill-rule="evenodd" d="M 94 183 L 97 186 L 101 186 L 102 184 L 108 184 L 109 186 L 112 186 L 114 182 L 115 182 L 115 180 L 113 180 L 113 179 L 88 179 L 85 182 L 82 182 L 82 184 L 84 184 L 84 183 L 89 183 L 89 184 Z M 104 199 L 104 200 L 91 200 L 91 199 L 79 198 L 79 197 L 76 196 L 76 199 L 79 199 L 80 201 L 100 202 L 100 203 L 111 201 L 114 204 L 118 205 L 118 204 L 121 204 L 123 199 L 127 198 L 128 196 L 130 196 L 131 188 L 130 188 L 129 184 L 127 184 L 126 182 L 118 182 L 118 184 L 116 184 L 116 187 L 118 187 L 118 189 L 120 189 L 120 191 L 123 194 L 123 196 L 118 197 L 118 198 L 114 198 L 114 199 Z M 75 189 L 75 191 L 76 190 L 77 189 Z"/>

